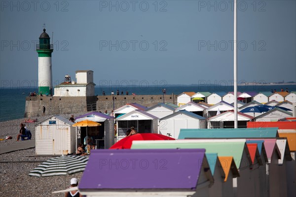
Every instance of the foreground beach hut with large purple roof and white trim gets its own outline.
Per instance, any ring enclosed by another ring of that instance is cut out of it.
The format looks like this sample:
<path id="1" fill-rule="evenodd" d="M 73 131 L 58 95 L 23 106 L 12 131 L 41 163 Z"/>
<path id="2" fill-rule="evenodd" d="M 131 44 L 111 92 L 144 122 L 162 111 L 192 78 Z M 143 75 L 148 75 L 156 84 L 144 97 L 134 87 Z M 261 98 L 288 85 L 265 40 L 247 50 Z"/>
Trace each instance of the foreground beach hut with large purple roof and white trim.
<path id="1" fill-rule="evenodd" d="M 94 150 L 78 189 L 86 197 L 205 197 L 209 168 L 204 149 Z"/>

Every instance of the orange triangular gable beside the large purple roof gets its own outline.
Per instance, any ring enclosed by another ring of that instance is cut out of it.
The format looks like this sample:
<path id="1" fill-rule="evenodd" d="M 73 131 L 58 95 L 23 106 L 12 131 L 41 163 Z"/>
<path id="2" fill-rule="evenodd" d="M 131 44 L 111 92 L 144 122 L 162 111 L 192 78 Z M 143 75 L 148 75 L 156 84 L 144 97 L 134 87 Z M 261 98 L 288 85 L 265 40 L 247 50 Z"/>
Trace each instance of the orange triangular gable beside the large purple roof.
<path id="1" fill-rule="evenodd" d="M 224 173 L 225 173 L 224 182 L 227 181 L 230 169 L 231 169 L 231 173 L 232 173 L 233 178 L 239 177 L 239 172 L 237 170 L 237 167 L 235 165 L 233 157 L 220 157 L 219 156 L 218 158 L 219 158 L 219 161 L 220 161 L 222 168 L 224 170 Z"/>

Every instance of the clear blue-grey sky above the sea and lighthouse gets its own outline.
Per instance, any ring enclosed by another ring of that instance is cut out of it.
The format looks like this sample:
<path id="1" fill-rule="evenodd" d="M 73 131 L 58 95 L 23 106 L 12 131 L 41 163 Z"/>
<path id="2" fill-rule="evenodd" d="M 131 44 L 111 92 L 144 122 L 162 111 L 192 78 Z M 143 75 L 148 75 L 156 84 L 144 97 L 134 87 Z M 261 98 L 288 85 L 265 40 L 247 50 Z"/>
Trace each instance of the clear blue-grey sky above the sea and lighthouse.
<path id="1" fill-rule="evenodd" d="M 238 0 L 238 82 L 296 81 L 296 0 Z M 0 0 L 0 87 L 34 86 L 43 26 L 53 84 L 233 80 L 229 0 Z"/>

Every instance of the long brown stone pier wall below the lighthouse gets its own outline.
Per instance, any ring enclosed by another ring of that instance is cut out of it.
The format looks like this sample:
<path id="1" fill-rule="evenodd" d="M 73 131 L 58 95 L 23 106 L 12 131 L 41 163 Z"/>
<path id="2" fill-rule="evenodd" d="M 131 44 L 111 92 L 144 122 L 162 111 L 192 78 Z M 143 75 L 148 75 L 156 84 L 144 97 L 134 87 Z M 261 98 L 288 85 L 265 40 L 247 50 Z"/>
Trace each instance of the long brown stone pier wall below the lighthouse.
<path id="1" fill-rule="evenodd" d="M 177 96 L 174 94 L 165 95 L 166 103 L 177 103 Z M 43 115 L 77 114 L 90 111 L 101 111 L 117 109 L 127 103 L 138 103 L 151 107 L 163 102 L 163 95 L 114 95 L 113 96 L 88 96 L 88 97 L 53 97 L 35 96 L 26 97 L 25 117 L 38 117 Z M 113 104 L 114 103 L 114 104 Z"/>

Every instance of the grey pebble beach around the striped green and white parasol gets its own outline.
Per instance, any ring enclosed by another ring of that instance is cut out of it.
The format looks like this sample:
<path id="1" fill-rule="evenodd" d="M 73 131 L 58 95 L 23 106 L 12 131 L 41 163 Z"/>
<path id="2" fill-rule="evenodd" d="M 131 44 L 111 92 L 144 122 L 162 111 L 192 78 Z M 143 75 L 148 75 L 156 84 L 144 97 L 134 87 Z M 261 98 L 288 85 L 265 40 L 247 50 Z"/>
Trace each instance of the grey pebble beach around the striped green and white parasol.
<path id="1" fill-rule="evenodd" d="M 62 115 L 69 118 L 71 115 Z M 76 115 L 74 115 L 76 116 Z M 39 120 L 49 116 L 36 117 Z M 19 124 L 24 120 L 14 119 L 0 122 L 0 148 L 9 146 L 16 141 L 19 132 Z M 31 130 L 32 140 L 35 140 L 34 123 L 26 123 Z M 5 136 L 12 136 L 12 139 L 5 140 Z M 5 153 L 0 155 L 0 196 L 1 197 L 64 197 L 65 194 L 51 194 L 53 191 L 65 190 L 70 186 L 71 178 L 81 179 L 82 172 L 73 175 L 61 175 L 51 177 L 32 177 L 28 174 L 31 170 L 43 161 L 52 157 L 35 156 L 35 148 Z"/>

